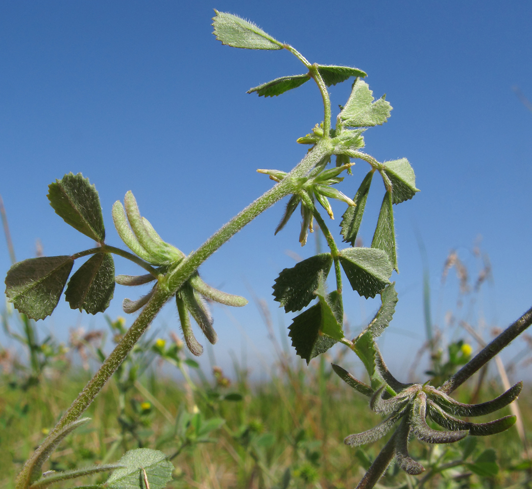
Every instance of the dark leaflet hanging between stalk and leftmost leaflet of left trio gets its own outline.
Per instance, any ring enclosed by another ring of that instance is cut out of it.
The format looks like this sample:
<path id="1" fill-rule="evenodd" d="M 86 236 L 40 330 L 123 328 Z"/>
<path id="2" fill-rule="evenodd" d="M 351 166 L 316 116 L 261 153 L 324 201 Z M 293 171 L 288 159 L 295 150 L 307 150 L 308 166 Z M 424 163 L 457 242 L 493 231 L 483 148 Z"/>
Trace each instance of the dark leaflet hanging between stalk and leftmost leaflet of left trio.
<path id="1" fill-rule="evenodd" d="M 72 309 L 104 312 L 114 293 L 114 261 L 109 253 L 95 253 L 73 274 L 66 288 Z"/>

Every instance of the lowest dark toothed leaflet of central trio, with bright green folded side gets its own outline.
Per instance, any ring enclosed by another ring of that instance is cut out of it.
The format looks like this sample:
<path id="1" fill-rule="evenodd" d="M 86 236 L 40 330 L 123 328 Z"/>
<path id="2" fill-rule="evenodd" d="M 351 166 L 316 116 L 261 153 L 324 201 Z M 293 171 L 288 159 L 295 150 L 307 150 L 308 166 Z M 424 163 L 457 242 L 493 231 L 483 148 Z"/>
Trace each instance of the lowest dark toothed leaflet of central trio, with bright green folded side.
<path id="1" fill-rule="evenodd" d="M 338 311 L 338 298 L 329 294 L 325 303 L 327 307 L 323 307 L 322 301 L 309 307 L 306 311 L 294 318 L 292 324 L 288 327 L 290 333 L 288 336 L 292 338 L 292 346 L 296 349 L 296 353 L 306 360 L 307 365 L 312 358 L 327 351 L 336 343 L 334 338 L 327 336 L 322 331 L 323 326 L 332 334 L 334 326 L 331 326 L 331 316 L 334 318 L 332 311 Z M 340 327 L 341 329 L 341 327 Z"/>

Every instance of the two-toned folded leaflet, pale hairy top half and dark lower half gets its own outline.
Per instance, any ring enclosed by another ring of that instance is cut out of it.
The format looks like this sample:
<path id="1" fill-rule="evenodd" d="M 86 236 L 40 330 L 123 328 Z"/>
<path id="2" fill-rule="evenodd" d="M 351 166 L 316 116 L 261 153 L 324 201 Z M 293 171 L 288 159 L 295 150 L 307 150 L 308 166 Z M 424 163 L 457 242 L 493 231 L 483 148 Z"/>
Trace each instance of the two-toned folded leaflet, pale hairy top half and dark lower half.
<path id="1" fill-rule="evenodd" d="M 340 263 L 353 290 L 365 298 L 375 297 L 390 281 L 392 264 L 378 248 L 345 248 Z"/>

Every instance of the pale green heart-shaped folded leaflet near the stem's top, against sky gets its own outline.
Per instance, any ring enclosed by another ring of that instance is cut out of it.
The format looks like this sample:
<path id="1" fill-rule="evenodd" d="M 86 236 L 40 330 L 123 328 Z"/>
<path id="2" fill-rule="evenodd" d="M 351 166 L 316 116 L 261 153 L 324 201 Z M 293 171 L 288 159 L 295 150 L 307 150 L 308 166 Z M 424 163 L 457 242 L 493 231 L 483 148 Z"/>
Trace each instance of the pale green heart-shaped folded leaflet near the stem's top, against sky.
<path id="1" fill-rule="evenodd" d="M 385 100 L 385 96 L 375 102 L 373 100 L 375 99 L 369 85 L 356 79 L 351 95 L 340 112 L 344 124 L 350 127 L 371 127 L 385 123 L 392 106 Z"/>

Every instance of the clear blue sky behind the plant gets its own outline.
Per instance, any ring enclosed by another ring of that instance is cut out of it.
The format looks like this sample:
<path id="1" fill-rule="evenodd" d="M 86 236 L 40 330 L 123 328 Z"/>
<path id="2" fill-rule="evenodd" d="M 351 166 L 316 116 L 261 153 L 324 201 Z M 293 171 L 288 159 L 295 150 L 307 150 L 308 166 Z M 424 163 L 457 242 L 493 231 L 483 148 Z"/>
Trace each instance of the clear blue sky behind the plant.
<path id="1" fill-rule="evenodd" d="M 304 156 L 306 147 L 295 140 L 322 120 L 317 88 L 307 83 L 274 99 L 247 95 L 250 87 L 301 73 L 302 66 L 284 51 L 222 46 L 211 34 L 216 8 L 253 20 L 311 62 L 361 68 L 374 95 L 386 93 L 394 107 L 388 123 L 367 131 L 365 150 L 380 161 L 408 158 L 421 192 L 395 207 L 400 302 L 381 340 L 388 363 L 404 367 L 394 351 L 413 355 L 424 339 L 416 230 L 427 250 L 435 323 L 444 323 L 447 310 L 472 322 L 482 317 L 486 329 L 516 319 L 532 302 L 532 113 L 512 88 L 532 99 L 532 4 L 335 5 L 3 2 L 0 194 L 17 259 L 34 256 L 37 240 L 47 255 L 92 246 L 47 203 L 47 185 L 69 171 L 96 184 L 109 244 L 120 245 L 112 203 L 131 190 L 162 237 L 188 253 L 268 190 L 271 182 L 256 168 L 288 171 Z M 346 101 L 349 89 L 350 83 L 331 88 L 333 106 Z M 359 162 L 341 190 L 354 195 L 366 166 Z M 372 188 L 361 230 L 368 246 L 382 195 L 382 188 Z M 315 252 L 312 239 L 299 246 L 296 216 L 273 236 L 283 210 L 278 204 L 265 212 L 201 268 L 214 286 L 264 298 L 276 329 L 286 328 L 294 314 L 281 314 L 272 301 L 273 280 L 294 265 L 293 253 L 306 258 Z M 343 212 L 335 210 L 333 230 Z M 493 284 L 456 310 L 456 279 L 440 285 L 443 263 L 456 248 L 475 275 L 470 250 L 478 236 Z M 2 239 L 2 273 L 9 266 Z M 117 271 L 135 268 L 117 260 Z M 121 314 L 123 297 L 136 294 L 117 287 L 109 314 Z M 351 291 L 344 302 L 353 329 L 377 307 Z M 270 361 L 267 331 L 253 304 L 215 308 L 214 318 L 217 361 L 230 349 Z M 61 303 L 40 327 L 65 338 L 70 327 L 103 324 Z M 172 307 L 155 327 L 177 329 Z"/>

